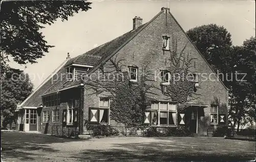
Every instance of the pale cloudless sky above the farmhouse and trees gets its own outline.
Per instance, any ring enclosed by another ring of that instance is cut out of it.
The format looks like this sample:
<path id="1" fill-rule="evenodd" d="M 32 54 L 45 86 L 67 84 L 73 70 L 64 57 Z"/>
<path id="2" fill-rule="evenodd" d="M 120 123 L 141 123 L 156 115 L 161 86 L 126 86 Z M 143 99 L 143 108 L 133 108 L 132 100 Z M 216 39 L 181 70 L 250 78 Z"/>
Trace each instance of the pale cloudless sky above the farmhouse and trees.
<path id="1" fill-rule="evenodd" d="M 255 36 L 254 1 L 90 1 L 90 10 L 79 12 L 67 21 L 58 19 L 41 30 L 50 48 L 35 64 L 10 66 L 24 70 L 37 88 L 67 57 L 81 55 L 94 47 L 121 36 L 133 28 L 135 16 L 150 21 L 161 7 L 170 8 L 185 31 L 195 26 L 216 23 L 231 34 L 233 45 L 242 45 Z"/>

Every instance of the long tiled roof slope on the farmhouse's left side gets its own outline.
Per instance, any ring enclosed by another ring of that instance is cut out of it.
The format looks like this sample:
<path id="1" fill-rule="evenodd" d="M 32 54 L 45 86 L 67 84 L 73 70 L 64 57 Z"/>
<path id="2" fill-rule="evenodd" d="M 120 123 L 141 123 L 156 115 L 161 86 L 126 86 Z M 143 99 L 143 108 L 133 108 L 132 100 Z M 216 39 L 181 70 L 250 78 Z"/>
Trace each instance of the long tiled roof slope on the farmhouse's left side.
<path id="1" fill-rule="evenodd" d="M 66 79 L 65 68 L 71 64 L 80 64 L 80 65 L 90 65 L 94 66 L 99 62 L 103 61 L 106 57 L 111 55 L 115 50 L 117 50 L 123 43 L 129 40 L 137 31 L 139 31 L 145 24 L 139 26 L 136 30 L 132 30 L 123 34 L 122 36 L 102 44 L 82 55 L 79 55 L 75 58 L 72 58 L 67 61 L 65 66 L 59 69 L 53 78 L 49 79 L 44 85 L 42 85 L 38 90 L 31 95 L 22 106 L 32 106 L 37 107 L 40 106 L 41 103 L 41 95 L 49 94 L 52 92 L 56 92 L 57 90 L 69 88 L 72 86 L 79 85 L 81 83 L 80 80 L 68 81 Z M 62 75 L 61 75 L 62 74 Z M 62 77 L 61 77 L 62 76 Z"/>

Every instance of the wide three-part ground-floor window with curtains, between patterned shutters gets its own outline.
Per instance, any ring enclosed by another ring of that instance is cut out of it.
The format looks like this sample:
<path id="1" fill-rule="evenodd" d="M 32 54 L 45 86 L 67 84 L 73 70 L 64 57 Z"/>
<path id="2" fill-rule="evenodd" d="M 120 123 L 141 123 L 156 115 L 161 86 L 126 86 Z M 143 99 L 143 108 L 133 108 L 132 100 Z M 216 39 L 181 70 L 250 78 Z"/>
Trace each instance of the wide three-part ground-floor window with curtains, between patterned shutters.
<path id="1" fill-rule="evenodd" d="M 176 104 L 170 102 L 152 102 L 150 114 L 150 124 L 152 125 L 176 125 Z M 149 121 L 148 118 L 146 121 Z"/>

